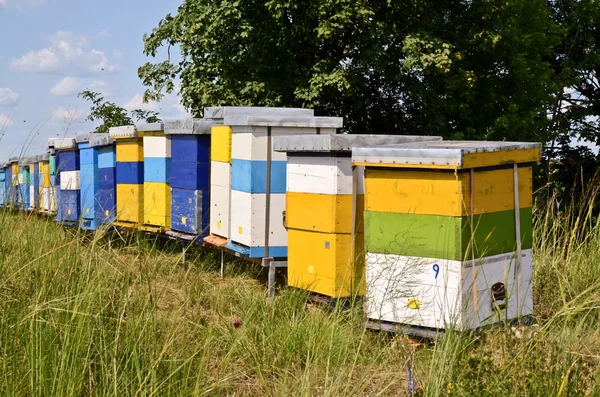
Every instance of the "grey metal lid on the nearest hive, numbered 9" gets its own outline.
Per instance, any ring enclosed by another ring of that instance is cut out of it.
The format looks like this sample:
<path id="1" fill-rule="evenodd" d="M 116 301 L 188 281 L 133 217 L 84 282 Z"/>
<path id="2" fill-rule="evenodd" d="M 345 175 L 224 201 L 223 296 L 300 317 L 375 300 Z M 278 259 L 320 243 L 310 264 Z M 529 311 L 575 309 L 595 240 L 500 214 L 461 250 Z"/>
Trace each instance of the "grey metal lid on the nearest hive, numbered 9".
<path id="1" fill-rule="evenodd" d="M 440 167 L 462 167 L 466 155 L 478 153 L 509 152 L 525 149 L 538 149 L 536 154 L 520 159 L 523 162 L 539 160 L 541 144 L 529 142 L 495 141 L 432 141 L 414 142 L 400 145 L 355 147 L 352 149 L 352 161 L 373 165 L 433 165 Z M 505 161 L 512 163 L 514 161 Z M 497 164 L 501 164 L 500 161 Z"/>

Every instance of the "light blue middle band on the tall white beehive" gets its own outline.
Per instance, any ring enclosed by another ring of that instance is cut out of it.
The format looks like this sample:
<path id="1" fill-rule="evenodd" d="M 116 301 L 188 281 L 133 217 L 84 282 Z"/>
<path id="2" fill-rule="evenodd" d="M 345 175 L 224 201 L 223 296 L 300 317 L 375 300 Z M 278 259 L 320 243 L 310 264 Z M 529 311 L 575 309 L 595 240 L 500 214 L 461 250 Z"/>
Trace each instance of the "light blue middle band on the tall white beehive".
<path id="1" fill-rule="evenodd" d="M 271 161 L 271 193 L 285 193 L 286 161 Z M 246 193 L 267 192 L 267 162 L 233 159 L 231 188 Z"/>

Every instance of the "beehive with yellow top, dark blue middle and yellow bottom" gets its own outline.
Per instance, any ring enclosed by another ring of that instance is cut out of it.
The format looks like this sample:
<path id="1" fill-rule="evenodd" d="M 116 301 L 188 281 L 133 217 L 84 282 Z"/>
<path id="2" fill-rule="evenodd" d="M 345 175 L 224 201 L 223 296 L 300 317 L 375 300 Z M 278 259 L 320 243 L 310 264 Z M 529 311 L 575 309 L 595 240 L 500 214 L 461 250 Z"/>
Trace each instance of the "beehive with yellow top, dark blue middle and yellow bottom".
<path id="1" fill-rule="evenodd" d="M 116 220 L 115 226 L 138 229 L 144 219 L 144 141 L 133 125 L 113 127 L 109 135 L 116 141 Z"/>

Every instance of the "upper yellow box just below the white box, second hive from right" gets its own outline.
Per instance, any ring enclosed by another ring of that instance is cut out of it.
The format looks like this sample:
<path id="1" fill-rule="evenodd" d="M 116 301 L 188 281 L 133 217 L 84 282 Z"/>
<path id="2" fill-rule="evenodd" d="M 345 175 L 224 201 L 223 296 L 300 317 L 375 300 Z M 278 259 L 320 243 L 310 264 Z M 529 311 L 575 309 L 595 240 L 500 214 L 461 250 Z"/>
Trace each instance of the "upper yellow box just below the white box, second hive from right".
<path id="1" fill-rule="evenodd" d="M 364 197 L 358 195 L 357 232 L 363 231 Z M 286 193 L 286 226 L 322 233 L 352 233 L 352 195 Z"/>

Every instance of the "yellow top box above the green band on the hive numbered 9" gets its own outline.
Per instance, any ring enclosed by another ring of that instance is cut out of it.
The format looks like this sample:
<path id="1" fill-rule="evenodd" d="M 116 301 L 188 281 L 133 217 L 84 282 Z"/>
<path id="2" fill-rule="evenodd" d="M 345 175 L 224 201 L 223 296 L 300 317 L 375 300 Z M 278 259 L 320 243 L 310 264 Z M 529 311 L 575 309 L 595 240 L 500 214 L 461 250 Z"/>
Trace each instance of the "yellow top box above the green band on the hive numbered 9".
<path id="1" fill-rule="evenodd" d="M 519 205 L 532 206 L 532 169 L 519 174 Z M 475 214 L 514 209 L 513 170 L 475 172 Z M 470 214 L 469 173 L 370 168 L 365 177 L 367 211 L 441 216 Z"/>

